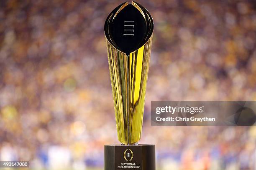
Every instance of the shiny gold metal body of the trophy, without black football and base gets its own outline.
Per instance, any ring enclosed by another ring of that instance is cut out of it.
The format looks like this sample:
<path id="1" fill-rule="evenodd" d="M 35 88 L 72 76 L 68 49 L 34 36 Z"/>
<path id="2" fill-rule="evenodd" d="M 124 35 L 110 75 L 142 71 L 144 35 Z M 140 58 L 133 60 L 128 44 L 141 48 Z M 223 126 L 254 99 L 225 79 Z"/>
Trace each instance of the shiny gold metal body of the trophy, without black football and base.
<path id="1" fill-rule="evenodd" d="M 136 3 L 133 5 L 139 8 Z M 106 32 L 108 30 L 105 35 Z M 130 54 L 118 50 L 106 37 L 118 140 L 125 145 L 133 145 L 141 139 L 153 33 L 149 36 L 144 45 Z"/>

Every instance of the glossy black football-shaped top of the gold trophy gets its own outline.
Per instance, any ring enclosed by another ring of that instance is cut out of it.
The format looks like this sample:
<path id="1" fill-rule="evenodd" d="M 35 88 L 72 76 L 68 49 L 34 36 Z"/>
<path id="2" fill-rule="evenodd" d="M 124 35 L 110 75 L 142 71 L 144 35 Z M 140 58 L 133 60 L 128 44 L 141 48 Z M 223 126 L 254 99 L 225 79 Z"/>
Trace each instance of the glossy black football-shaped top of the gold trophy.
<path id="1" fill-rule="evenodd" d="M 143 6 L 137 2 L 125 2 L 110 13 L 104 30 L 112 45 L 128 54 L 146 43 L 153 28 L 153 19 Z"/>

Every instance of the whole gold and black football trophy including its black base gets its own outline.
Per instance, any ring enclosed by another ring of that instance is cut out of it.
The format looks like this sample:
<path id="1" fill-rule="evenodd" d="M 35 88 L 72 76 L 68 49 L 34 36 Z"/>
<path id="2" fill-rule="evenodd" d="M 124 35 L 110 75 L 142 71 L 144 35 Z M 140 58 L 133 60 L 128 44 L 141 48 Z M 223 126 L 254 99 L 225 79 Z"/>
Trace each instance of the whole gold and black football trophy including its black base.
<path id="1" fill-rule="evenodd" d="M 153 28 L 151 15 L 137 2 L 119 5 L 106 19 L 104 31 L 121 145 L 105 145 L 105 170 L 155 170 L 155 145 L 138 145 Z"/>

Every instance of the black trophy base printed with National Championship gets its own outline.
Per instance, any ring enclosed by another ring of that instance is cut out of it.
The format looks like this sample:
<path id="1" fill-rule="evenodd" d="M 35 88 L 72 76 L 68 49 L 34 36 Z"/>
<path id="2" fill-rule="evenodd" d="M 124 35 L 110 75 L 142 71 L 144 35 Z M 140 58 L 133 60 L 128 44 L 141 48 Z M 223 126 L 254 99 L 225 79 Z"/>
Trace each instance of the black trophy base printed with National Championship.
<path id="1" fill-rule="evenodd" d="M 156 170 L 155 145 L 105 145 L 104 170 Z"/>

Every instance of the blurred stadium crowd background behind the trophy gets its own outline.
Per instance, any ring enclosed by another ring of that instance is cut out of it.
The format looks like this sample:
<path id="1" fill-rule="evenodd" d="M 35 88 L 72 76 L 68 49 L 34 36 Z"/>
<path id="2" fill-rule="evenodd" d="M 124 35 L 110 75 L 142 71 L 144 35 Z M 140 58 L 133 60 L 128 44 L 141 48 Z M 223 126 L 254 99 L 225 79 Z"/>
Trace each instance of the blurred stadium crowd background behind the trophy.
<path id="1" fill-rule="evenodd" d="M 0 160 L 102 170 L 118 144 L 103 25 L 119 0 L 1 0 Z M 256 127 L 154 127 L 151 100 L 256 100 L 256 2 L 138 0 L 154 19 L 140 143 L 157 170 L 256 170 Z"/>

